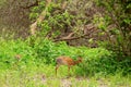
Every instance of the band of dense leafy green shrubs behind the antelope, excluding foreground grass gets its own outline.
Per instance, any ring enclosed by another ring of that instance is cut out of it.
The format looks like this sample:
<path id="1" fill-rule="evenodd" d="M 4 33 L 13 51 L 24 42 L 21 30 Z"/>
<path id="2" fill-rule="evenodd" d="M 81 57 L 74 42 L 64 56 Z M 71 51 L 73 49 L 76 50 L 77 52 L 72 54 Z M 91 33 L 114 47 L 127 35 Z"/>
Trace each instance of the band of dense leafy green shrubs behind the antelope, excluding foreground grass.
<path id="1" fill-rule="evenodd" d="M 16 54 L 21 54 L 22 59 L 17 62 Z M 76 59 L 79 55 L 83 58 L 83 62 L 79 64 L 75 73 L 78 75 L 95 75 L 95 74 L 115 74 L 122 72 L 123 75 L 131 72 L 130 58 L 119 60 L 117 54 L 104 48 L 86 48 L 70 47 L 66 42 L 55 44 L 48 39 L 33 38 L 27 40 L 1 40 L 0 41 L 0 69 L 19 67 L 28 65 L 56 65 L 55 59 L 59 55 L 68 55 Z"/>

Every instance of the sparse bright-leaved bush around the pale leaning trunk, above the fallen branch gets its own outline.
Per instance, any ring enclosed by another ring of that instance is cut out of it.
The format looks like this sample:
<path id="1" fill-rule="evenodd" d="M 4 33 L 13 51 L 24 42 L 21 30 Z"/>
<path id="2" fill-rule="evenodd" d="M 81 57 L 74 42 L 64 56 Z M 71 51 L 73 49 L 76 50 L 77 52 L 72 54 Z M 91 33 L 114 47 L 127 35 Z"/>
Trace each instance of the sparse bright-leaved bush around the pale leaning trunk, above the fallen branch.
<path id="1" fill-rule="evenodd" d="M 43 3 L 44 2 L 44 3 Z M 81 27 L 88 21 L 87 17 L 85 21 L 83 16 L 85 13 L 82 10 L 81 15 L 79 15 L 78 11 L 75 11 L 76 5 L 73 4 L 74 8 L 70 9 L 73 1 L 70 0 L 60 0 L 52 1 L 48 7 L 45 5 L 45 1 L 39 1 L 40 4 L 34 7 L 31 12 L 31 20 L 37 20 L 37 15 L 40 12 L 45 11 L 45 18 L 43 22 L 38 23 L 38 27 L 40 28 L 37 34 L 43 37 L 48 37 L 50 39 L 55 39 L 59 37 L 62 33 L 74 32 L 76 35 L 82 35 Z M 81 2 L 81 1 L 80 1 Z M 35 10 L 34 10 L 35 9 Z M 73 11 L 72 11 L 73 10 Z"/>

